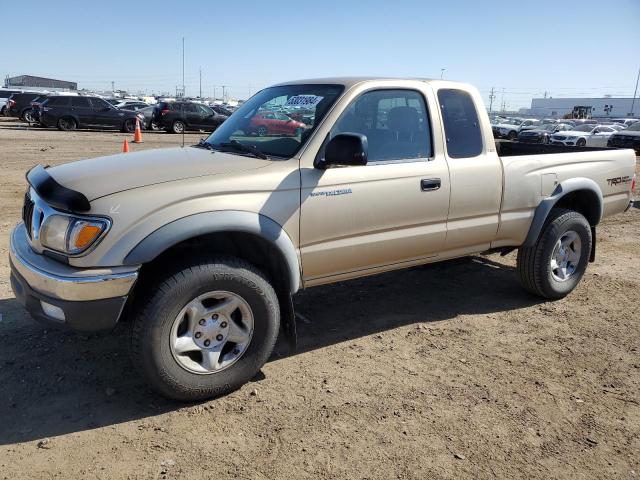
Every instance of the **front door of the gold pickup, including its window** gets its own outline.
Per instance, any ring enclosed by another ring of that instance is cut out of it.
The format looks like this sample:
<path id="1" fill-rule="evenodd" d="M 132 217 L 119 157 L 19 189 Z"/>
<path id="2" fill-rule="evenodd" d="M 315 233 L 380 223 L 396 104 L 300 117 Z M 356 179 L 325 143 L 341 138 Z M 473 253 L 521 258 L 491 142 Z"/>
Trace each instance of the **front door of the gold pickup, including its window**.
<path id="1" fill-rule="evenodd" d="M 409 89 L 365 92 L 338 119 L 329 137 L 367 136 L 368 164 L 301 169 L 307 285 L 420 263 L 443 248 L 449 172 L 431 123 L 422 93 Z"/>

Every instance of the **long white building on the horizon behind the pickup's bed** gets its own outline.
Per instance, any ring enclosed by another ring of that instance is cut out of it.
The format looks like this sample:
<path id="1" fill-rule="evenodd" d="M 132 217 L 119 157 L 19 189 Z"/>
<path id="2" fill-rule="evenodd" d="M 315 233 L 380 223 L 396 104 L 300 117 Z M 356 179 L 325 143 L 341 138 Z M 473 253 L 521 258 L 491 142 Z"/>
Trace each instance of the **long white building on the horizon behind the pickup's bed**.
<path id="1" fill-rule="evenodd" d="M 591 107 L 594 117 L 619 118 L 640 116 L 640 98 L 636 98 L 633 112 L 633 98 L 534 98 L 531 100 L 530 114 L 539 117 L 562 117 L 573 111 L 573 107 Z M 632 114 L 633 115 L 630 115 Z"/>

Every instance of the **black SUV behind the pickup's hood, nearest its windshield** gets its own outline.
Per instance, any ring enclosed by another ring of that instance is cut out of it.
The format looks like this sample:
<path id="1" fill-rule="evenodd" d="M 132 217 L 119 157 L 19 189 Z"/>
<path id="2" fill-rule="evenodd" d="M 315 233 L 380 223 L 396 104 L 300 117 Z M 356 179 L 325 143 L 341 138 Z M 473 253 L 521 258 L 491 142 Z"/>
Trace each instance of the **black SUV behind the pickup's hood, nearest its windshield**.
<path id="1" fill-rule="evenodd" d="M 214 131 L 227 118 L 206 105 L 195 102 L 160 102 L 153 113 L 153 122 L 167 132 L 185 130 Z"/>

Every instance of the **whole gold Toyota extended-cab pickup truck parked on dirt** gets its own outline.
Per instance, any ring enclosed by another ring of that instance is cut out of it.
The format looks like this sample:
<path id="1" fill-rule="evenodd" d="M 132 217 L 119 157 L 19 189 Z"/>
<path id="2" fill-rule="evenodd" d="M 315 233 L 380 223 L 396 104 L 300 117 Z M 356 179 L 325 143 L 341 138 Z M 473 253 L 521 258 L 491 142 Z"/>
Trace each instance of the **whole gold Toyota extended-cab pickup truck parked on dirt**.
<path id="1" fill-rule="evenodd" d="M 263 111 L 313 121 L 258 136 Z M 11 284 L 31 315 L 131 326 L 160 394 L 232 391 L 295 343 L 302 288 L 518 249 L 522 286 L 559 299 L 629 208 L 632 150 L 496 143 L 478 91 L 443 80 L 334 78 L 266 88 L 186 148 L 27 174 Z"/>

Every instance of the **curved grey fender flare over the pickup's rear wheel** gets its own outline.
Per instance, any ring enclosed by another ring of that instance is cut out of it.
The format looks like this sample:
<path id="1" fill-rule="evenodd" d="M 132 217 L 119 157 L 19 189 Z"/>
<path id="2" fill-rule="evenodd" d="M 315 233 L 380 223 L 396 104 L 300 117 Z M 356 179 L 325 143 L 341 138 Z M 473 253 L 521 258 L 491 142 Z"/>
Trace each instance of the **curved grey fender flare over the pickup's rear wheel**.
<path id="1" fill-rule="evenodd" d="M 604 209 L 602 190 L 600 190 L 598 184 L 590 178 L 570 178 L 568 180 L 560 182 L 553 193 L 540 202 L 540 204 L 536 208 L 531 226 L 529 227 L 527 238 L 524 241 L 524 247 L 533 247 L 535 245 L 538 237 L 540 236 L 540 232 L 544 227 L 544 223 L 549 216 L 549 212 L 551 212 L 553 207 L 562 199 L 562 197 L 571 192 L 579 190 L 590 192 L 593 201 L 597 202 L 596 215 L 594 218 L 590 219 L 589 223 L 591 223 L 592 227 L 595 227 L 598 223 L 600 223 L 600 219 L 602 218 L 602 212 Z"/>

